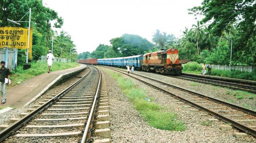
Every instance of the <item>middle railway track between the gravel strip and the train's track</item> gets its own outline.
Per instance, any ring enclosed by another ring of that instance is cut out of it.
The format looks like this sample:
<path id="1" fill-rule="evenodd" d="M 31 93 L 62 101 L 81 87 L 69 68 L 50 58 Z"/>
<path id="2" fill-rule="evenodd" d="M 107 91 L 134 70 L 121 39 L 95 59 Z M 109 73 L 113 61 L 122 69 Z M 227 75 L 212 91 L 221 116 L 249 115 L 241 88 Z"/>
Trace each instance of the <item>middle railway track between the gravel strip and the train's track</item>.
<path id="1" fill-rule="evenodd" d="M 104 68 L 108 68 L 127 75 L 127 72 L 123 70 L 105 66 Z M 192 107 L 197 108 L 198 110 L 202 110 L 207 114 L 211 114 L 217 119 L 229 123 L 232 126 L 246 132 L 247 134 L 251 134 L 252 136 L 256 137 L 256 112 L 253 110 L 236 106 L 234 104 L 192 92 L 180 87 L 172 86 L 170 84 L 139 74 L 132 73 L 128 76 L 171 95 L 172 97 L 176 98 L 176 100 L 174 100 L 175 102 L 180 104 L 187 103 Z"/>

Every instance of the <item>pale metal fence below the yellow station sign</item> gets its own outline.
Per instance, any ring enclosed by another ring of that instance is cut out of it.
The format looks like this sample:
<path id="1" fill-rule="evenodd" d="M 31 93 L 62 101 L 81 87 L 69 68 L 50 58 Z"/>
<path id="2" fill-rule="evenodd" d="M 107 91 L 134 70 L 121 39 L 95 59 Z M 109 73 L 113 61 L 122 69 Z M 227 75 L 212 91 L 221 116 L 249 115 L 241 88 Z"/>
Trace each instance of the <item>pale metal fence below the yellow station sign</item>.
<path id="1" fill-rule="evenodd" d="M 18 49 L 1 48 L 0 61 L 4 61 L 5 67 L 7 67 L 10 71 L 15 70 L 17 67 L 17 54 Z"/>

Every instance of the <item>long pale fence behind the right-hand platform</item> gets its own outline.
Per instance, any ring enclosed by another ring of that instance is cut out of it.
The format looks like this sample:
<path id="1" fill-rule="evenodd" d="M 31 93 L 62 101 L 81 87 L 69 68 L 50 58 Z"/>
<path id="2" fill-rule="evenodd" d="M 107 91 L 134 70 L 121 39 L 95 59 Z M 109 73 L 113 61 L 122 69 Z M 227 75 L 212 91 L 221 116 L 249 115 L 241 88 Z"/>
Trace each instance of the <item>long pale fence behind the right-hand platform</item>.
<path id="1" fill-rule="evenodd" d="M 252 72 L 256 70 L 255 66 L 249 65 L 220 65 L 220 64 L 212 64 L 212 69 L 222 70 L 222 71 L 229 71 L 229 70 L 236 70 L 241 72 Z"/>

